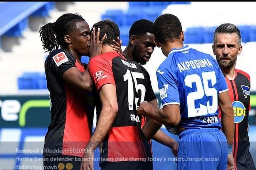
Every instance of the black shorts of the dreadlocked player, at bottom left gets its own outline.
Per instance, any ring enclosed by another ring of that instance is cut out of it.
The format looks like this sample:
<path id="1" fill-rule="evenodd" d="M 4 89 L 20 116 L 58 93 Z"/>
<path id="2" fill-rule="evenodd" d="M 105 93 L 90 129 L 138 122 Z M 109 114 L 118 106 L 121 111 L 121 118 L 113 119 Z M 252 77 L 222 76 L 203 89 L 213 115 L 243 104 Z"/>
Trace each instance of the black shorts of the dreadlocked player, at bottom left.
<path id="1" fill-rule="evenodd" d="M 81 158 L 76 156 L 59 155 L 44 157 L 44 170 L 80 170 Z"/>

